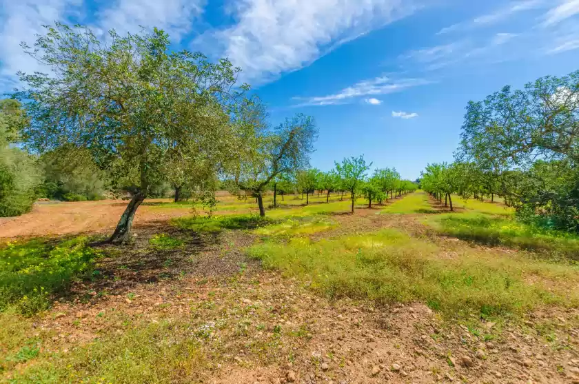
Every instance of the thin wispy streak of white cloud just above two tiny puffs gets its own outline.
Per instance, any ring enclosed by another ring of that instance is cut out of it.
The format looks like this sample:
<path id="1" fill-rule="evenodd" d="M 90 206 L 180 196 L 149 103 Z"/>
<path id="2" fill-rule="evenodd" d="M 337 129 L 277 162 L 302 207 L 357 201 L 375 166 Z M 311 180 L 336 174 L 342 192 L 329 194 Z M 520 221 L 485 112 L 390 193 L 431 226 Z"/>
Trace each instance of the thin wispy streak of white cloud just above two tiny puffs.
<path id="1" fill-rule="evenodd" d="M 418 85 L 429 84 L 431 81 L 425 79 L 390 79 L 389 77 L 376 77 L 375 79 L 360 81 L 352 86 L 344 88 L 340 92 L 325 96 L 314 97 L 294 97 L 294 100 L 301 101 L 298 105 L 335 105 L 343 104 L 357 97 L 376 96 L 378 94 L 389 94 L 400 92 L 407 88 Z M 378 101 L 378 103 L 376 103 Z M 367 103 L 379 104 L 381 101 L 375 98 L 367 99 Z"/>

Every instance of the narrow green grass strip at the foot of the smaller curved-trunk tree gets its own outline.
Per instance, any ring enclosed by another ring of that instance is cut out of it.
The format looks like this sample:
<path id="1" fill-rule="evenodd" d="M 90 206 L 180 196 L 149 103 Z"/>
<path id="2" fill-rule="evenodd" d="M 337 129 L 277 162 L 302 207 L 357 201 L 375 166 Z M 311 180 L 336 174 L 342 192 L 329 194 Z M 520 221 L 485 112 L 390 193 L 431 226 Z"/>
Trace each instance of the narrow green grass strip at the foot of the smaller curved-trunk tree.
<path id="1" fill-rule="evenodd" d="M 221 232 L 225 229 L 255 229 L 273 222 L 274 221 L 267 216 L 261 217 L 257 214 L 179 217 L 170 221 L 172 225 L 175 225 L 178 228 L 183 230 L 194 230 L 196 232 Z"/>

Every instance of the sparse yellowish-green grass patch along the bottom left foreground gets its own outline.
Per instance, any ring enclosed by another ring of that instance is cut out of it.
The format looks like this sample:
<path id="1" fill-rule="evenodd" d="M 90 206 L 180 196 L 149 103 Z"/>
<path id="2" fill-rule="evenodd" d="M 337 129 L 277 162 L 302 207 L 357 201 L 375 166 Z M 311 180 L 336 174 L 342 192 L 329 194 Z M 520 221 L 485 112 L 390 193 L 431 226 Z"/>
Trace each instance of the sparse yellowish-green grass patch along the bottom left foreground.
<path id="1" fill-rule="evenodd" d="M 198 382 L 206 365 L 190 325 L 163 322 L 111 334 L 69 353 L 48 354 L 17 371 L 10 383 L 191 383 Z"/>

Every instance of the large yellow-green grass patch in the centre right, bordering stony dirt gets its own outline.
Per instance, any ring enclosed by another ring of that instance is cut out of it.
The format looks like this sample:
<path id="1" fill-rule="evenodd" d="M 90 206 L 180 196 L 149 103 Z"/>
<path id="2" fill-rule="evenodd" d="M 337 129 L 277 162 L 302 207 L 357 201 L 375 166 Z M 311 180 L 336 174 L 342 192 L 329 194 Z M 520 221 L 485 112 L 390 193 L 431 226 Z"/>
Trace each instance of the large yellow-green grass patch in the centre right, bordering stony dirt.
<path id="1" fill-rule="evenodd" d="M 332 298 L 423 301 L 447 316 L 508 316 L 539 305 L 579 303 L 576 267 L 494 258 L 470 249 L 456 259 L 440 259 L 436 245 L 397 230 L 315 243 L 268 241 L 249 253 L 265 267 L 301 277 Z M 527 273 L 557 281 L 558 288 L 526 283 Z"/>

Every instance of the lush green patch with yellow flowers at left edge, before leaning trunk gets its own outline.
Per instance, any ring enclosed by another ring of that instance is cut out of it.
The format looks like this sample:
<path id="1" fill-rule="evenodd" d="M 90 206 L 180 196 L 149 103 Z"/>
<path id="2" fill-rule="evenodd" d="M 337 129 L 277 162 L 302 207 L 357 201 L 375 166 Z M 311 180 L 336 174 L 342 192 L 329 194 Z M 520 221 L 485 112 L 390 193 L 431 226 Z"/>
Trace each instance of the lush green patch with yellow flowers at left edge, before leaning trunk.
<path id="1" fill-rule="evenodd" d="M 92 270 L 97 256 L 79 237 L 50 245 L 45 241 L 10 242 L 0 249 L 0 310 L 14 306 L 34 314 L 50 306 L 74 279 Z"/>

